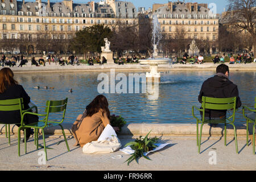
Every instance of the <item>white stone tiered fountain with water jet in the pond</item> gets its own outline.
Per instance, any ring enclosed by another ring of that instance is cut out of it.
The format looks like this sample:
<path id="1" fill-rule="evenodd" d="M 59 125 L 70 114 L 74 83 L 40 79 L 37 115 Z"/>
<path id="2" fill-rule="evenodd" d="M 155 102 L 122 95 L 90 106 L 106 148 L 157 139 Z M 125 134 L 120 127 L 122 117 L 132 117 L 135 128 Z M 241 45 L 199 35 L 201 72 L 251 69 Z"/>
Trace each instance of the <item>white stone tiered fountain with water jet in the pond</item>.
<path id="1" fill-rule="evenodd" d="M 170 63 L 170 59 L 168 58 L 158 58 L 158 44 L 159 40 L 162 38 L 161 34 L 161 27 L 160 23 L 158 22 L 158 17 L 157 15 L 153 15 L 153 20 L 152 20 L 152 39 L 153 39 L 153 46 L 154 46 L 154 52 L 152 53 L 152 58 L 150 59 L 144 59 L 144 60 L 139 60 L 139 63 L 144 65 L 150 65 L 150 72 L 146 73 L 146 78 L 147 81 L 158 81 L 160 82 L 160 73 L 158 73 L 158 65 L 159 64 L 168 64 Z"/>

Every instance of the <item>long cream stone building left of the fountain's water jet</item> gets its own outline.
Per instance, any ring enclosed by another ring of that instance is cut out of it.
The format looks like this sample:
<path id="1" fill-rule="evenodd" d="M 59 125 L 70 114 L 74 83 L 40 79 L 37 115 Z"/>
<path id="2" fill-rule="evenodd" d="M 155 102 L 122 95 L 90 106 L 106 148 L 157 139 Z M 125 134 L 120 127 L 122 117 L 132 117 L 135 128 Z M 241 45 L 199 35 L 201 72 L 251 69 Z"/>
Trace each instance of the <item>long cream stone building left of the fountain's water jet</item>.
<path id="1" fill-rule="evenodd" d="M 105 24 L 114 26 L 117 21 L 135 23 L 137 10 L 133 3 L 105 0 L 99 3 L 73 3 L 72 0 L 52 3 L 0 0 L 0 39 L 22 39 L 31 41 L 31 51 L 35 52 L 35 42 L 40 35 L 50 34 L 53 39 L 69 39 L 76 31 Z"/>

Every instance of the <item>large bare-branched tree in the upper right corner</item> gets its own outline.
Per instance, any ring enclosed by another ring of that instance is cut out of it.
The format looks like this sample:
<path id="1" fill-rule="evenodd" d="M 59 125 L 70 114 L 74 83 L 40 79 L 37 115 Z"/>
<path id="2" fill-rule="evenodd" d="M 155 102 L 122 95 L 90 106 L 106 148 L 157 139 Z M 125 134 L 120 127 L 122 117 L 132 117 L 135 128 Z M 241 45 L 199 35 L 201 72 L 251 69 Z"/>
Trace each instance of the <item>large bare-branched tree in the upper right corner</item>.
<path id="1" fill-rule="evenodd" d="M 256 55 L 256 1 L 255 0 L 229 0 L 228 12 L 224 16 L 225 22 L 241 31 L 248 31 L 254 42 L 254 55 Z"/>

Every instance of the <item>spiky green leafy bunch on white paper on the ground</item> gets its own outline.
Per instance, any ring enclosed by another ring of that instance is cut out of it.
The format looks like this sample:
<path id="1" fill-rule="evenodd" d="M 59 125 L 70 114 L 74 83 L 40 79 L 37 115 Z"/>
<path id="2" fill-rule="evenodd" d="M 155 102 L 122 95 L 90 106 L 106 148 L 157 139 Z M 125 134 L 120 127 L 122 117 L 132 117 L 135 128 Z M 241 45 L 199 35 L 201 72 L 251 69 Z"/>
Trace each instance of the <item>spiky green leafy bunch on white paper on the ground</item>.
<path id="1" fill-rule="evenodd" d="M 131 149 L 134 150 L 134 153 L 131 154 L 131 157 L 125 161 L 127 162 L 128 166 L 133 160 L 136 160 L 136 162 L 138 163 L 139 158 L 141 158 L 142 156 L 145 159 L 151 160 L 143 153 L 154 150 L 154 148 L 156 148 L 155 144 L 156 142 L 158 142 L 159 138 L 156 138 L 156 137 L 148 138 L 148 135 L 150 134 L 150 132 L 144 138 L 140 136 L 134 142 L 126 143 L 125 147 L 130 146 Z"/>

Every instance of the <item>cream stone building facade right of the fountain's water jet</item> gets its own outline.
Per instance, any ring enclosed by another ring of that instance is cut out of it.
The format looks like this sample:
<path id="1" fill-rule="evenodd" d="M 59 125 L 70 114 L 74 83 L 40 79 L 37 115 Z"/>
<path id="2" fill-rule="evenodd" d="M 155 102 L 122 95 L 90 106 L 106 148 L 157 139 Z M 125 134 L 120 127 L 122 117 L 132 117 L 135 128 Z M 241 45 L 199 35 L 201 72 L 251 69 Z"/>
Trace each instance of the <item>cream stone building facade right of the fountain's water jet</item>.
<path id="1" fill-rule="evenodd" d="M 218 15 L 208 9 L 207 4 L 168 2 L 155 4 L 152 10 L 139 11 L 138 14 L 147 14 L 152 18 L 157 15 L 162 29 L 162 34 L 169 39 L 176 39 L 177 31 L 184 31 L 184 39 L 207 40 L 208 50 L 200 50 L 205 53 L 218 52 Z M 184 51 L 188 51 L 187 43 Z M 202 46 L 203 47 L 203 46 Z"/>

